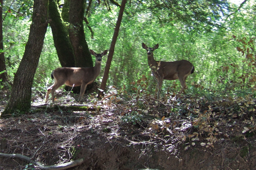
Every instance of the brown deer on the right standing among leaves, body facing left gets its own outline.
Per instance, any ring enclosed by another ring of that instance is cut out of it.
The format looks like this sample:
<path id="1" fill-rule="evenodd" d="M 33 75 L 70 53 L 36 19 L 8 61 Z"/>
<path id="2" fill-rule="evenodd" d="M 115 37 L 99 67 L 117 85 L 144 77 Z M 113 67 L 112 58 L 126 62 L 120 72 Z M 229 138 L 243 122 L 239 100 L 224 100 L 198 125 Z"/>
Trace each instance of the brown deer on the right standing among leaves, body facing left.
<path id="1" fill-rule="evenodd" d="M 180 93 L 185 93 L 186 78 L 188 75 L 194 73 L 195 67 L 187 60 L 179 61 L 156 61 L 153 56 L 153 51 L 156 50 L 159 45 L 156 44 L 153 48 L 149 48 L 146 44 L 142 43 L 142 47 L 147 50 L 148 65 L 155 76 L 158 85 L 158 92 L 161 91 L 163 80 L 176 80 L 179 79 L 182 86 Z"/>

